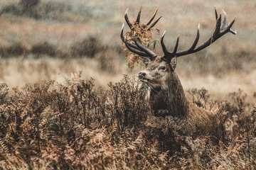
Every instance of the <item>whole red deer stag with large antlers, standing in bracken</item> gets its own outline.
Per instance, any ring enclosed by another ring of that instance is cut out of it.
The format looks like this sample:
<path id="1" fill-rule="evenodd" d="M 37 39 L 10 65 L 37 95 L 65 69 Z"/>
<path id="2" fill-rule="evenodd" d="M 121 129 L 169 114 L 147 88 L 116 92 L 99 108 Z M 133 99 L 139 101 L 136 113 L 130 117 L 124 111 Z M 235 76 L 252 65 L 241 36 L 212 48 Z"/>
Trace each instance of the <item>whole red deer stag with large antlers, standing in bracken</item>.
<path id="1" fill-rule="evenodd" d="M 141 8 L 142 9 L 142 8 Z M 166 116 L 171 115 L 174 118 L 178 119 L 189 119 L 192 120 L 191 123 L 193 127 L 196 129 L 202 129 L 205 126 L 213 124 L 213 113 L 210 111 L 206 111 L 203 108 L 199 108 L 198 106 L 193 105 L 193 103 L 188 102 L 185 97 L 183 87 L 181 85 L 181 81 L 178 79 L 178 75 L 176 74 L 176 63 L 177 57 L 181 57 L 183 55 L 190 55 L 194 52 L 198 52 L 208 47 L 210 44 L 218 40 L 218 38 L 225 35 L 225 33 L 233 33 L 236 34 L 236 31 L 232 30 L 231 27 L 235 22 L 235 19 L 227 24 L 226 21 L 226 13 L 224 13 L 224 19 L 221 23 L 221 15 L 218 16 L 218 13 L 215 9 L 215 29 L 213 30 L 213 34 L 210 38 L 201 45 L 197 46 L 199 40 L 199 26 L 196 34 L 196 40 L 194 40 L 193 45 L 188 50 L 178 51 L 178 40 L 176 40 L 176 45 L 174 47 L 173 52 L 169 52 L 166 49 L 166 45 L 164 45 L 164 34 L 161 36 L 161 47 L 164 52 L 164 55 L 156 55 L 149 48 L 145 47 L 142 44 L 142 41 L 137 37 L 135 33 L 134 27 L 140 23 L 140 15 L 141 9 L 137 16 L 137 21 L 131 23 L 127 16 L 127 11 L 125 12 L 125 21 L 129 28 L 134 31 L 134 43 L 127 42 L 126 38 L 123 35 L 124 24 L 121 30 L 121 38 L 125 43 L 128 50 L 134 52 L 139 55 L 142 61 L 146 64 L 146 69 L 142 72 L 139 72 L 139 79 L 151 87 L 150 92 L 150 100 L 151 107 L 154 109 L 156 116 Z M 156 23 L 159 21 L 158 18 L 154 23 L 151 21 L 154 20 L 156 16 L 156 12 L 154 16 L 149 20 L 146 25 L 137 25 L 144 26 L 150 30 Z"/>

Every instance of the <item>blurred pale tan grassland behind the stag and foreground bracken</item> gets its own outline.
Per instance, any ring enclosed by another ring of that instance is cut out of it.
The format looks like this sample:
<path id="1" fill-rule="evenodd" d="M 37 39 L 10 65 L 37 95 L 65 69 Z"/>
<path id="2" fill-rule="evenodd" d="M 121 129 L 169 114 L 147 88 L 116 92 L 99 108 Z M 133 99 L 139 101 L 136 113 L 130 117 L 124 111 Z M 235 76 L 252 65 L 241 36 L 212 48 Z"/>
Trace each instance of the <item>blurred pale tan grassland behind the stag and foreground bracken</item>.
<path id="1" fill-rule="evenodd" d="M 237 35 L 228 33 L 206 50 L 178 58 L 176 71 L 185 90 L 205 87 L 216 99 L 226 99 L 240 88 L 252 98 L 256 91 L 255 0 L 1 0 L 0 82 L 11 88 L 43 79 L 62 83 L 71 73 L 82 71 L 82 79 L 92 77 L 98 86 L 107 86 L 123 74 L 137 76 L 144 68 L 127 67 L 119 32 L 124 11 L 129 8 L 134 21 L 140 6 L 144 23 L 159 9 L 157 16 L 163 18 L 156 28 L 161 33 L 166 30 L 169 50 L 178 35 L 178 50 L 188 49 L 198 23 L 198 44 L 208 40 L 215 26 L 214 6 L 218 13 L 225 10 L 228 21 L 236 16 Z"/>

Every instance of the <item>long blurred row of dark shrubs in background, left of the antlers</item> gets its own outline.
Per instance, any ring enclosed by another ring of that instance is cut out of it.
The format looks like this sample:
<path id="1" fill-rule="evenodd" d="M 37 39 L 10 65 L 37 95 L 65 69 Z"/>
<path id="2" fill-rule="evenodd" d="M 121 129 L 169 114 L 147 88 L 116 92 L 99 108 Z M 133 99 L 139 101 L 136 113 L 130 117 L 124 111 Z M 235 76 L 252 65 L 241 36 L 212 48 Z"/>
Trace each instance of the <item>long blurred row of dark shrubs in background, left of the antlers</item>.
<path id="1" fill-rule="evenodd" d="M 100 69 L 114 73 L 114 57 L 119 56 L 122 51 L 117 47 L 103 45 L 98 38 L 89 36 L 80 42 L 75 42 L 68 50 L 59 50 L 57 46 L 47 41 L 37 42 L 28 50 L 22 42 L 14 42 L 12 45 L 0 47 L 0 56 L 3 58 L 17 57 L 28 54 L 35 55 L 36 58 L 47 55 L 48 57 L 89 57 L 96 58 L 99 61 Z"/>

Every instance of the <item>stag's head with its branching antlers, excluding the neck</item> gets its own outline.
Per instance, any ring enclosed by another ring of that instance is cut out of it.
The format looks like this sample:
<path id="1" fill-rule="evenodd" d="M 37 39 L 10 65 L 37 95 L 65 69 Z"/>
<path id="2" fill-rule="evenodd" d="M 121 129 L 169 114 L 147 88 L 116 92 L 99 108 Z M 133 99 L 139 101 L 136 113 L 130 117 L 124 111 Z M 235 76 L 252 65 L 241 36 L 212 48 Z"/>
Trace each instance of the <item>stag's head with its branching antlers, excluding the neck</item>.
<path id="1" fill-rule="evenodd" d="M 139 10 L 136 24 L 139 24 L 139 18 L 141 16 L 142 8 Z M 157 10 L 156 10 L 157 11 Z M 198 24 L 198 30 L 196 34 L 196 39 L 193 42 L 193 45 L 188 50 L 179 51 L 178 50 L 178 40 L 179 37 L 176 40 L 176 45 L 174 47 L 173 52 L 169 52 L 166 49 L 166 45 L 164 45 L 164 34 L 161 36 L 161 47 L 164 52 L 164 55 L 156 55 L 153 51 L 151 51 L 149 48 L 145 47 L 141 40 L 137 37 L 135 31 L 134 31 L 134 43 L 127 42 L 126 38 L 124 38 L 123 30 L 124 30 L 124 24 L 122 26 L 121 30 L 121 38 L 122 41 L 125 43 L 128 50 L 131 52 L 134 52 L 135 54 L 139 55 L 142 58 L 142 61 L 146 64 L 146 69 L 142 72 L 139 72 L 139 79 L 146 84 L 148 84 L 151 89 L 154 91 L 160 91 L 160 90 L 168 90 L 170 86 L 171 79 L 177 78 L 175 74 L 176 64 L 177 64 L 177 57 L 181 57 L 183 55 L 190 55 L 194 52 L 198 52 L 200 50 L 203 50 L 204 48 L 208 47 L 210 44 L 215 42 L 215 40 L 218 40 L 218 38 L 225 35 L 225 33 L 233 33 L 236 34 L 236 31 L 233 31 L 231 27 L 233 26 L 233 23 L 235 22 L 235 19 L 227 25 L 226 21 L 226 13 L 224 13 L 224 20 L 221 23 L 221 15 L 218 16 L 218 13 L 215 8 L 215 29 L 213 30 L 213 34 L 210 36 L 210 38 L 204 42 L 203 44 L 196 47 L 199 40 L 199 28 L 200 24 Z M 156 16 L 156 12 L 151 17 L 148 23 L 144 26 L 149 26 L 148 29 L 151 29 L 161 18 L 158 18 L 154 23 L 149 25 L 151 21 L 154 20 L 154 17 Z M 127 25 L 131 30 L 134 29 L 132 26 L 132 23 L 129 22 L 129 18 L 127 16 L 127 11 L 124 15 L 125 21 L 127 22 Z"/>

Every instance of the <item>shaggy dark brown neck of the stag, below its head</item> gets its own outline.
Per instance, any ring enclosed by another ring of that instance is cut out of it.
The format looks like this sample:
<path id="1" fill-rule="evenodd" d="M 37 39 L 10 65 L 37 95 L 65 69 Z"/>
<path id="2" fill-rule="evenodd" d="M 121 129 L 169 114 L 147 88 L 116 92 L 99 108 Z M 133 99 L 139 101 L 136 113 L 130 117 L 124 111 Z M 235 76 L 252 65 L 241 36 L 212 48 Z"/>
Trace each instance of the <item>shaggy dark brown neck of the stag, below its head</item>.
<path id="1" fill-rule="evenodd" d="M 171 72 L 157 91 L 151 90 L 150 98 L 154 111 L 167 110 L 169 115 L 183 117 L 188 113 L 188 101 L 176 72 Z"/>

